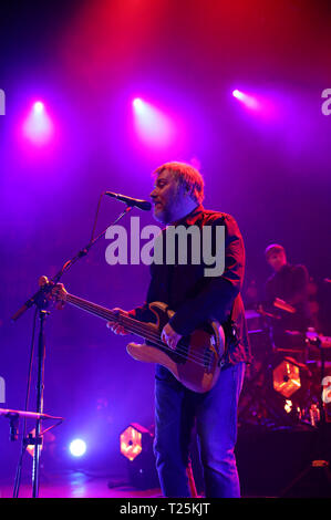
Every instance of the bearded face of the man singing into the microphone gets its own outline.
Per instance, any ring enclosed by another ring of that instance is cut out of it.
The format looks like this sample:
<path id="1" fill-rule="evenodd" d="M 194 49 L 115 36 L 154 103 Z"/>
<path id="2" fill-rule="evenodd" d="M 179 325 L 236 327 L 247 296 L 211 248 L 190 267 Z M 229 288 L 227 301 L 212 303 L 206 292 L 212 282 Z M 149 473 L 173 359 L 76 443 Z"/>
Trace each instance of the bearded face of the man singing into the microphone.
<path id="1" fill-rule="evenodd" d="M 162 223 L 170 223 L 177 219 L 177 215 L 184 204 L 184 188 L 169 169 L 164 169 L 156 178 L 151 193 L 154 202 L 154 218 Z"/>

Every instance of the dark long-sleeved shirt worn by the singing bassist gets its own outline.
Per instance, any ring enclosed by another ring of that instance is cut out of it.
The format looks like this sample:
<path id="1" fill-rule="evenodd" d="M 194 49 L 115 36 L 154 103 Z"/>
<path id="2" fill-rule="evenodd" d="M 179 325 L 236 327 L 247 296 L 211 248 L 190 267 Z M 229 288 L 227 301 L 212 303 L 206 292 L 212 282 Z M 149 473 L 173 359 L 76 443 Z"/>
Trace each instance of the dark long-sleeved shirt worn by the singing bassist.
<path id="1" fill-rule="evenodd" d="M 152 263 L 151 283 L 146 302 L 143 306 L 131 311 L 142 321 L 151 321 L 153 314 L 147 304 L 153 301 L 167 303 L 175 311 L 169 320 L 173 329 L 182 335 L 190 334 L 208 320 L 219 321 L 227 334 L 227 363 L 251 361 L 244 304 L 240 295 L 245 273 L 245 247 L 241 233 L 234 217 L 228 214 L 211 211 L 198 206 L 184 219 L 173 226 L 211 226 L 214 247 L 216 245 L 216 226 L 225 227 L 225 269 L 221 275 L 206 277 L 206 266 L 188 262 L 180 264 Z M 165 228 L 166 230 L 166 228 Z M 165 232 L 163 230 L 163 233 Z M 200 233 L 203 235 L 203 233 Z M 203 245 L 201 245 L 203 247 Z M 154 320 L 153 320 L 154 321 Z M 235 324 L 237 337 L 230 334 L 230 322 Z"/>

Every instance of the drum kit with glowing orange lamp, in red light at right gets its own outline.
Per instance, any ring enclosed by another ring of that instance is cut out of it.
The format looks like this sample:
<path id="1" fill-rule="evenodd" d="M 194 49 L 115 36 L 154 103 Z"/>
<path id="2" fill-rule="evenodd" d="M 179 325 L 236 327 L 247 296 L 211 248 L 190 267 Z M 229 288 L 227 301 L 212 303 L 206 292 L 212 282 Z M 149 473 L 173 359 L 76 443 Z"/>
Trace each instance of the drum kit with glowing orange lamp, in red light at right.
<path id="1" fill-rule="evenodd" d="M 278 326 L 296 309 L 276 299 L 246 310 L 252 363 L 239 403 L 239 423 L 270 428 L 314 428 L 331 423 L 331 337 Z M 323 386 L 324 385 L 324 386 Z M 329 385 L 329 386 L 328 386 Z"/>

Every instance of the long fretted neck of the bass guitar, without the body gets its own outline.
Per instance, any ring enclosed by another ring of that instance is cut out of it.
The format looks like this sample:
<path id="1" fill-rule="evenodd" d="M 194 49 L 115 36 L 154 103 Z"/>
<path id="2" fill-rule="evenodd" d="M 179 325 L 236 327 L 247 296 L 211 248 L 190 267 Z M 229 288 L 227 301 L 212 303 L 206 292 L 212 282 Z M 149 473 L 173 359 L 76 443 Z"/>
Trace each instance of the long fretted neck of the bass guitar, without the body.
<path id="1" fill-rule="evenodd" d="M 120 311 L 111 311 L 105 306 L 97 305 L 96 303 L 89 302 L 83 298 L 75 297 L 73 294 L 66 293 L 66 302 L 73 306 L 77 306 L 83 311 L 90 312 L 99 318 L 102 318 L 106 321 L 113 321 L 123 325 L 128 332 L 137 334 L 141 337 L 148 339 L 151 336 L 151 324 L 139 322 L 134 318 L 122 314 Z M 153 329 L 153 337 L 155 339 L 155 329 Z"/>

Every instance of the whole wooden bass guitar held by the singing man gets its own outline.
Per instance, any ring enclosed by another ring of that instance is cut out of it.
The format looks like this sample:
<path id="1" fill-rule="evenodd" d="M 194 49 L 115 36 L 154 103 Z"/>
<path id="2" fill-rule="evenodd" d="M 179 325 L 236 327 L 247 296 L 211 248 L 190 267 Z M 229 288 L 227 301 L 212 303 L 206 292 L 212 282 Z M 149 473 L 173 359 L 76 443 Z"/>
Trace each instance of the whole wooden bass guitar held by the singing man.
<path id="1" fill-rule="evenodd" d="M 60 302 L 68 302 L 106 321 L 118 323 L 127 332 L 143 337 L 143 344 L 127 345 L 128 354 L 137 361 L 165 366 L 187 388 L 205 393 L 216 384 L 226 344 L 224 329 L 217 321 L 209 321 L 188 336 L 183 336 L 173 350 L 161 339 L 163 327 L 174 315 L 174 311 L 165 303 L 149 303 L 155 323 L 145 323 L 118 310 L 110 310 L 70 294 L 62 283 L 53 287 L 52 295 Z"/>

